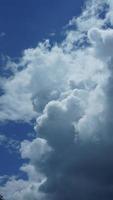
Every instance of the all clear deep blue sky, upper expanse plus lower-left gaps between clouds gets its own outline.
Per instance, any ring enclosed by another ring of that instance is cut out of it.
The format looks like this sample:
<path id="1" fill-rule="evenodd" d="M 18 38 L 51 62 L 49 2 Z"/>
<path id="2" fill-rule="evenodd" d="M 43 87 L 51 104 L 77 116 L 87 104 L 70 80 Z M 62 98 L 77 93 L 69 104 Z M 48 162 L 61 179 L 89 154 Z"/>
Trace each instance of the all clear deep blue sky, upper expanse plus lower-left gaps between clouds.
<path id="1" fill-rule="evenodd" d="M 24 49 L 35 47 L 46 38 L 53 42 L 61 40 L 63 28 L 73 16 L 80 14 L 83 2 L 84 0 L 0 0 L 1 58 L 4 55 L 16 59 Z M 51 36 L 51 33 L 55 35 Z M 4 66 L 2 61 L 1 63 L 2 74 Z M 27 139 L 28 133 L 32 132 L 33 125 L 24 122 L 0 123 L 1 134 L 19 141 Z M 18 173 L 23 161 L 16 151 L 10 153 L 1 145 L 0 157 L 0 175 Z"/>

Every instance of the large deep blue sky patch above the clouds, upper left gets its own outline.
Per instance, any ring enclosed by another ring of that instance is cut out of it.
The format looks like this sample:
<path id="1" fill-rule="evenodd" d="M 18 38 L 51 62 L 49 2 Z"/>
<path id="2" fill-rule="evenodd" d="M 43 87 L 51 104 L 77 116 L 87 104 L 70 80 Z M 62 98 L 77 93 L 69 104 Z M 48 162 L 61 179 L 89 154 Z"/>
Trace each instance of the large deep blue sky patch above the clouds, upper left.
<path id="1" fill-rule="evenodd" d="M 35 47 L 39 41 L 50 37 L 59 40 L 62 28 L 78 15 L 84 0 L 1 0 L 0 38 L 2 54 L 16 57 L 23 49 Z"/>

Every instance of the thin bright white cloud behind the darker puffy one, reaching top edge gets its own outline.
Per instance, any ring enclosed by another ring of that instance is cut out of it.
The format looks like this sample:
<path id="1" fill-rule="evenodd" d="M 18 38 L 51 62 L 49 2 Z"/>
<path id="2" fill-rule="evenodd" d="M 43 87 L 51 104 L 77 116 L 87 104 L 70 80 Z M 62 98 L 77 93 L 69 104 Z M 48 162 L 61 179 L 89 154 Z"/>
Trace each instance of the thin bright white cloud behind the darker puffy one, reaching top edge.
<path id="1" fill-rule="evenodd" d="M 91 65 L 96 68 L 98 61 L 85 50 L 84 44 L 87 41 L 87 31 L 92 27 L 101 28 L 105 23 L 98 16 L 98 10 L 102 10 L 104 3 L 105 1 L 87 3 L 83 14 L 70 22 L 77 24 L 76 30 L 68 31 L 66 39 L 60 45 L 50 47 L 47 40 L 34 49 L 25 50 L 18 63 L 9 59 L 7 67 L 9 65 L 12 68 L 14 76 L 4 81 L 5 94 L 0 97 L 1 121 L 30 121 L 37 116 L 36 111 L 41 112 L 47 102 L 58 99 L 60 93 L 68 89 L 70 80 L 78 83 L 92 76 Z M 81 45 L 84 46 L 82 51 L 72 50 Z M 92 59 L 96 64 L 93 64 Z M 24 69 L 18 72 L 20 68 Z"/>

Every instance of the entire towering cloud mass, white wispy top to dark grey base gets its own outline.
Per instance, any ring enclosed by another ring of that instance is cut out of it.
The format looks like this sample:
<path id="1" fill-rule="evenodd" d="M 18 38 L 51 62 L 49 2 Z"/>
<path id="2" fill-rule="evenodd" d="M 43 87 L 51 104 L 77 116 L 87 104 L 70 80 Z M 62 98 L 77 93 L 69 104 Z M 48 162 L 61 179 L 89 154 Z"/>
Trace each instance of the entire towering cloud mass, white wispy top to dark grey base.
<path id="1" fill-rule="evenodd" d="M 111 11 L 111 1 L 88 2 L 76 30 L 25 50 L 6 81 L 0 119 L 36 118 L 37 133 L 20 149 L 28 179 L 0 188 L 7 200 L 113 199 Z"/>

